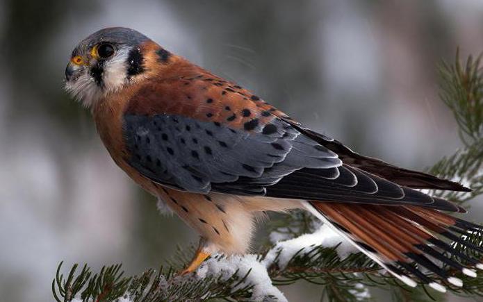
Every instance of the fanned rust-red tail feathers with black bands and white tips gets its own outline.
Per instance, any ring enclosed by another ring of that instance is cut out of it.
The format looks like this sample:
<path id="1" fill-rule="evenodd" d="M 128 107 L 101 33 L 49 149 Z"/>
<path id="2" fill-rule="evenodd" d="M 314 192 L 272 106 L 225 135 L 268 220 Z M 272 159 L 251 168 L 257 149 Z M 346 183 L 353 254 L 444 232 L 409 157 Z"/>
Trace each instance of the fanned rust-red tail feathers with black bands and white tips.
<path id="1" fill-rule="evenodd" d="M 404 283 L 411 280 L 409 276 L 414 276 L 421 283 L 443 292 L 445 287 L 438 280 L 445 280 L 457 287 L 462 282 L 450 276 L 442 265 L 472 277 L 476 276 L 476 272 L 469 266 L 483 268 L 480 260 L 441 240 L 445 237 L 466 249 L 483 254 L 482 246 L 455 235 L 480 233 L 482 226 L 414 205 L 357 205 L 318 201 L 309 204 L 323 217 L 322 220 L 334 226 L 344 237 L 350 238 L 361 251 L 366 251 L 366 255 Z M 422 267 L 436 278 L 423 273 Z M 409 283 L 412 284 L 411 281 Z"/>

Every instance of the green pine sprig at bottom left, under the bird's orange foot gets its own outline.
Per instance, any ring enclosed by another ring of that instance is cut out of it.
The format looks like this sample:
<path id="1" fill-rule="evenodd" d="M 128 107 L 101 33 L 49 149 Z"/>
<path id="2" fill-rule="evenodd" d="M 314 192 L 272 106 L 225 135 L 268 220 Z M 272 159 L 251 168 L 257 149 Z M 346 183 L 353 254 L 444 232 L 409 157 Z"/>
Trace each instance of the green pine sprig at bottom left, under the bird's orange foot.
<path id="1" fill-rule="evenodd" d="M 248 299 L 253 287 L 244 285 L 234 290 L 237 284 L 243 283 L 248 274 L 241 278 L 234 274 L 227 280 L 216 276 L 197 279 L 177 276 L 173 269 L 161 267 L 157 272 L 149 269 L 140 276 L 126 278 L 122 277 L 120 272 L 121 265 L 102 267 L 95 276 L 92 276 L 91 269 L 87 266 L 76 274 L 77 265 L 74 265 L 67 279 L 63 280 L 63 275 L 60 274 L 61 266 L 62 262 L 58 266 L 56 280 L 52 283 L 54 298 L 58 302 L 120 301 L 122 298 L 133 302 L 201 301 L 221 298 L 237 301 Z M 84 286 L 77 286 L 80 284 Z"/>

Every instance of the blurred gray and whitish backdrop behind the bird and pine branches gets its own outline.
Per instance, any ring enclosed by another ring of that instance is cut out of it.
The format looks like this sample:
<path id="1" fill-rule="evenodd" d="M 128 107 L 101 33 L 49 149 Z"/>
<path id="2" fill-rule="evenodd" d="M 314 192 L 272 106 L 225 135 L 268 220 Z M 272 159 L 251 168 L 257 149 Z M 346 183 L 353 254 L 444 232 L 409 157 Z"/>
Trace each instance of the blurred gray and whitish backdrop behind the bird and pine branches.
<path id="1" fill-rule="evenodd" d="M 60 260 L 127 274 L 197 238 L 115 166 L 63 91 L 72 48 L 128 26 L 369 156 L 423 169 L 459 146 L 436 65 L 483 51 L 483 1 L 0 1 L 0 297 L 52 301 Z M 470 219 L 483 219 L 482 200 Z M 322 288 L 282 287 L 290 301 Z M 452 298 L 452 301 L 458 301 Z"/>

